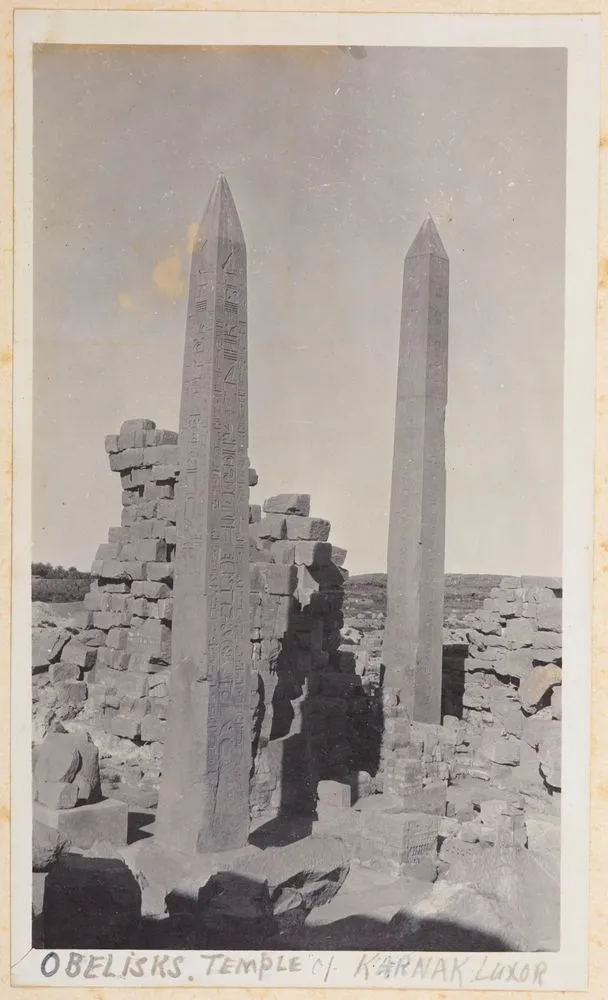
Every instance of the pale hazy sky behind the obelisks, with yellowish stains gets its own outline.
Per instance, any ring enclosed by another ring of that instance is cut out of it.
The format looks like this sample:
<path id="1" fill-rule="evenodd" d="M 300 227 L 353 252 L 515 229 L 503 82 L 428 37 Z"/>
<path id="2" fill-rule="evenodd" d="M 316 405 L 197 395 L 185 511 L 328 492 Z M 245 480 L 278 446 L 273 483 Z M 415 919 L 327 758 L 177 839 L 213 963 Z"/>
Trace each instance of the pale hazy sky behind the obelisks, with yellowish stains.
<path id="1" fill-rule="evenodd" d="M 355 57 L 356 56 L 356 57 Z M 106 434 L 177 429 L 216 177 L 247 243 L 252 502 L 310 493 L 386 568 L 403 258 L 450 258 L 446 570 L 561 573 L 566 53 L 44 45 L 34 60 L 35 561 L 120 523 Z"/>

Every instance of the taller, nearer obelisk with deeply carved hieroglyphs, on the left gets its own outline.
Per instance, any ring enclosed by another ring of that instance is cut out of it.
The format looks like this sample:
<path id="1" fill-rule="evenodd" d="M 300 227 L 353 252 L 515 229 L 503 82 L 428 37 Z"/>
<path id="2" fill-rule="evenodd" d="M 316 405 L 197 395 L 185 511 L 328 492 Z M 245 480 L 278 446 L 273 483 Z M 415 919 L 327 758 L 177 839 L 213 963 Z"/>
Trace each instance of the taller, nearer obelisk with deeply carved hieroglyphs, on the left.
<path id="1" fill-rule="evenodd" d="M 226 179 L 194 252 L 179 421 L 170 709 L 155 834 L 241 847 L 251 767 L 247 264 Z"/>

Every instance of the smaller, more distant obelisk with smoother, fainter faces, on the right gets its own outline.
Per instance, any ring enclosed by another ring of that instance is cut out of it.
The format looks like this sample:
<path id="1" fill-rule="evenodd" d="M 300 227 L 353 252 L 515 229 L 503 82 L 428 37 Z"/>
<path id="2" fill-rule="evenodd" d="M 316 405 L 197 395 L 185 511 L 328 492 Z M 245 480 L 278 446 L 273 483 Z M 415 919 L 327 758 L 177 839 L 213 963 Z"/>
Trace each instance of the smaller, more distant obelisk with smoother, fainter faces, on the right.
<path id="1" fill-rule="evenodd" d="M 429 218 L 405 257 L 388 538 L 385 685 L 441 721 L 449 261 Z"/>

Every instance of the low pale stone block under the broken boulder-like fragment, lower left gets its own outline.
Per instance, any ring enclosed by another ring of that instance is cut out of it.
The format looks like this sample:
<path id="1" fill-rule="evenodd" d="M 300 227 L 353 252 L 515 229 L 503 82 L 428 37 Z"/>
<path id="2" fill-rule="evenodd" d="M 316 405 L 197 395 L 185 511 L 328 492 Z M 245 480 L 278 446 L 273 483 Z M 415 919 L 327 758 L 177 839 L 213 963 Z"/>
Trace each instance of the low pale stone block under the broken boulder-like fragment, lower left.
<path id="1" fill-rule="evenodd" d="M 118 799 L 102 799 L 74 809 L 49 809 L 34 802 L 34 819 L 58 830 L 73 847 L 83 850 L 96 841 L 117 847 L 127 843 L 129 808 Z"/>

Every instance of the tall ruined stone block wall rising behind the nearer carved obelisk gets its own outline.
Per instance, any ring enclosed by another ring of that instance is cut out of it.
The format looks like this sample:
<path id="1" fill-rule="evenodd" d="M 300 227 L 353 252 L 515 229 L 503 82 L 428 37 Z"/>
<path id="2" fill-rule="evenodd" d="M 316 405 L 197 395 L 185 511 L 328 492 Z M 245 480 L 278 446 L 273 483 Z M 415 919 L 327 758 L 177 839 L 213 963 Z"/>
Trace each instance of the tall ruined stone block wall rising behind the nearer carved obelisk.
<path id="1" fill-rule="evenodd" d="M 133 420 L 105 447 L 120 474 L 121 524 L 97 550 L 79 631 L 49 679 L 104 745 L 139 751 L 134 777 L 141 793 L 143 770 L 153 803 L 169 707 L 178 438 Z M 367 711 L 354 657 L 340 646 L 346 553 L 328 541 L 329 522 L 309 515 L 303 494 L 250 506 L 254 815 L 314 809 L 316 782 L 356 766 Z M 107 761 L 105 775 L 118 781 Z"/>

